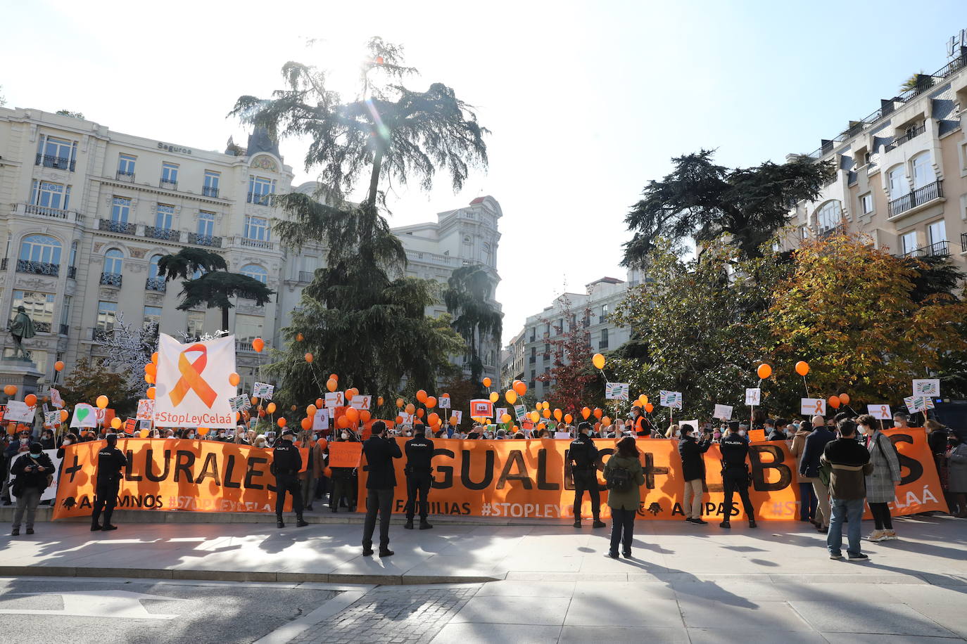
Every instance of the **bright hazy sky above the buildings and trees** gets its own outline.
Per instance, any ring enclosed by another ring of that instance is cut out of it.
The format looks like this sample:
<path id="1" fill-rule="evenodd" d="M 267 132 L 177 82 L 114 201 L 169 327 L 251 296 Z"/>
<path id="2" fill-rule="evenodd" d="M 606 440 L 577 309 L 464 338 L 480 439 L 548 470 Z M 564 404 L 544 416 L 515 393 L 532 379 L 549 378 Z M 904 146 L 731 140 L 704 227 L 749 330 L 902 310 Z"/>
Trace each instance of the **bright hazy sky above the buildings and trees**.
<path id="1" fill-rule="evenodd" d="M 504 210 L 504 339 L 565 288 L 625 277 L 625 213 L 670 157 L 747 166 L 808 153 L 947 62 L 967 5 L 910 2 L 181 2 L 0 0 L 8 107 L 70 109 L 112 129 L 223 150 L 225 115 L 298 60 L 355 73 L 378 35 L 478 107 L 490 167 L 389 197 L 392 225 L 493 195 Z M 306 39 L 325 41 L 307 49 Z M 348 87 L 347 87 L 348 89 Z M 305 147 L 283 142 L 296 182 Z"/>

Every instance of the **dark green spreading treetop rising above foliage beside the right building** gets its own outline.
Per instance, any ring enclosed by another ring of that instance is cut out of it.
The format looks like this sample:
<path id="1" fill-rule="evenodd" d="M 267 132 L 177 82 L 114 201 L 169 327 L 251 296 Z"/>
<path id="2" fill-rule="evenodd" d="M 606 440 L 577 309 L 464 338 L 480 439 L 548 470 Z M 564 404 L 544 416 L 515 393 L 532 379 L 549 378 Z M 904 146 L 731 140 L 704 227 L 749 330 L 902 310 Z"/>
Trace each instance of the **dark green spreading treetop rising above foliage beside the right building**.
<path id="1" fill-rule="evenodd" d="M 745 257 L 786 225 L 789 205 L 816 198 L 833 177 L 828 163 L 797 158 L 777 165 L 729 169 L 702 150 L 672 159 L 674 169 L 650 182 L 625 217 L 634 235 L 625 243 L 625 266 L 641 266 L 659 238 L 694 238 L 699 244 L 727 234 Z"/>

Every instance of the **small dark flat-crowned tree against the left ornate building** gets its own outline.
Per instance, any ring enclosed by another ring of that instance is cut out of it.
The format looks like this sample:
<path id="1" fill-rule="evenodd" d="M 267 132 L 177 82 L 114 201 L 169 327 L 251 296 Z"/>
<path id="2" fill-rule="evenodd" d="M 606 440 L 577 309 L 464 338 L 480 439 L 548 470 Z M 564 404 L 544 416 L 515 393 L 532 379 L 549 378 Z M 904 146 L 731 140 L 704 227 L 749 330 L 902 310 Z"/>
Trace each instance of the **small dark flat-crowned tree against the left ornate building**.
<path id="1" fill-rule="evenodd" d="M 199 275 L 200 273 L 200 275 Z M 232 297 L 255 300 L 262 306 L 271 301 L 275 291 L 254 277 L 232 273 L 218 253 L 200 248 L 182 248 L 158 260 L 158 275 L 167 280 L 182 279 L 182 302 L 179 311 L 204 304 L 221 309 L 221 328 L 228 329 L 228 309 Z M 193 277 L 198 275 L 198 277 Z"/>

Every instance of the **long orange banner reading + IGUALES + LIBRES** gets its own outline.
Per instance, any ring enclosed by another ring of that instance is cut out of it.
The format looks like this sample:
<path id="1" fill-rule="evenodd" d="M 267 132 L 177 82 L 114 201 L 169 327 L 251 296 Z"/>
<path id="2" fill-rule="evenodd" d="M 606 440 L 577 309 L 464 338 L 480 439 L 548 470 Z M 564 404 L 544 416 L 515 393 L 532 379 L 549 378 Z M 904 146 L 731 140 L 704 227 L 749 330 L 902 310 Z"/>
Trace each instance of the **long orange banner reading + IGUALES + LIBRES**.
<path id="1" fill-rule="evenodd" d="M 933 458 L 923 430 L 888 431 L 902 465 L 902 482 L 891 504 L 894 516 L 947 511 Z M 400 449 L 406 438 L 396 438 Z M 566 464 L 568 440 L 460 440 L 435 439 L 430 513 L 495 518 L 573 518 L 574 501 L 570 467 Z M 614 440 L 595 440 L 601 453 L 599 483 L 601 516 L 610 516 L 601 469 L 614 451 Z M 681 502 L 685 481 L 677 440 L 641 438 L 645 485 L 641 488 L 642 518 L 683 518 Z M 405 451 L 405 450 L 404 450 Z M 749 496 L 756 518 L 799 517 L 799 474 L 796 459 L 785 441 L 765 441 L 749 447 L 752 485 Z M 403 512 L 406 486 L 405 459 L 396 463 L 394 512 Z M 724 502 L 718 445 L 705 455 L 706 484 L 703 514 L 721 520 Z M 360 468 L 360 498 L 366 498 L 366 465 Z M 365 504 L 359 510 L 365 511 Z M 584 495 L 582 514 L 591 516 Z M 738 494 L 732 517 L 743 518 Z"/>

